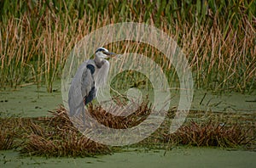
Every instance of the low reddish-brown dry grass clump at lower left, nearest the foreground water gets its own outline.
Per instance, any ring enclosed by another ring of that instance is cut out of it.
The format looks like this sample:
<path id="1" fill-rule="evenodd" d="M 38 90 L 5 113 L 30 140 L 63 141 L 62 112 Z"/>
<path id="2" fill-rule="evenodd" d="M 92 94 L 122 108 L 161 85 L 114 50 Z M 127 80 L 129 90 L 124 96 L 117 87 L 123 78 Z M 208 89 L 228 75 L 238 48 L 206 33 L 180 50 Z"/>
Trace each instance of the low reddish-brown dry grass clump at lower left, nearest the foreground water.
<path id="1" fill-rule="evenodd" d="M 21 154 L 56 157 L 84 157 L 111 153 L 107 146 L 95 143 L 77 132 L 63 132 L 62 135 L 50 134 L 49 137 L 31 134 L 20 152 Z"/>

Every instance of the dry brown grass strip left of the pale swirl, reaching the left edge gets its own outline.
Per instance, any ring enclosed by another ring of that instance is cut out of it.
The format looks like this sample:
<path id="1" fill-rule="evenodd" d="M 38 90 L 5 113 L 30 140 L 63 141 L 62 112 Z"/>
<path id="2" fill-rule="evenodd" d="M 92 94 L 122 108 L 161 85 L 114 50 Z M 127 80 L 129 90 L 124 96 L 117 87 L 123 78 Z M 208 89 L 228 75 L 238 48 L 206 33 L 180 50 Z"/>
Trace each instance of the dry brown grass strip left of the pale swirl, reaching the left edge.
<path id="1" fill-rule="evenodd" d="M 53 117 L 1 119 L 1 149 L 18 148 L 20 154 L 44 156 L 94 156 L 111 154 L 106 145 L 84 137 L 73 127 L 63 107 Z"/>

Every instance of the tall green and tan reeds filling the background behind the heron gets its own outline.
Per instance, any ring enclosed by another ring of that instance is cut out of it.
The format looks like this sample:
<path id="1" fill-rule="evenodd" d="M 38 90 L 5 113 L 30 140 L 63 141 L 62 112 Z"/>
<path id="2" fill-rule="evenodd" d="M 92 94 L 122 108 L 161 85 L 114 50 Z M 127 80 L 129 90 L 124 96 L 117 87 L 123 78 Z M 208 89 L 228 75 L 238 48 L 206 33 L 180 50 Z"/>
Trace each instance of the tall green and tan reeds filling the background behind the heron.
<path id="1" fill-rule="evenodd" d="M 2 1 L 0 14 L 2 88 L 34 82 L 38 87 L 46 84 L 52 92 L 53 81 L 61 78 L 68 54 L 83 36 L 104 25 L 136 21 L 154 25 L 177 41 L 189 59 L 196 87 L 237 92 L 255 89 L 253 0 L 20 0 Z M 141 52 L 159 63 L 169 78 L 175 76 L 173 67 L 155 48 L 136 42 L 108 48 L 116 53 Z"/>

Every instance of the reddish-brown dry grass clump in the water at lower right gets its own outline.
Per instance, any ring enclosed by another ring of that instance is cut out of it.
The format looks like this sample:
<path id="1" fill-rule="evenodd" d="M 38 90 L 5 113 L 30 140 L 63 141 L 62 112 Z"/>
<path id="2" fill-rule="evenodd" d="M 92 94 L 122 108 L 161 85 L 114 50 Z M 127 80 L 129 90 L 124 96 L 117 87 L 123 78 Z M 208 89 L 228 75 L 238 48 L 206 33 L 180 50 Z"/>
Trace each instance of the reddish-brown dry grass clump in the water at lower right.
<path id="1" fill-rule="evenodd" d="M 177 132 L 166 135 L 172 143 L 192 146 L 212 146 L 234 148 L 250 146 L 255 140 L 253 128 L 246 128 L 236 123 L 231 126 L 218 121 L 209 120 L 205 123 L 189 121 L 180 127 Z"/>

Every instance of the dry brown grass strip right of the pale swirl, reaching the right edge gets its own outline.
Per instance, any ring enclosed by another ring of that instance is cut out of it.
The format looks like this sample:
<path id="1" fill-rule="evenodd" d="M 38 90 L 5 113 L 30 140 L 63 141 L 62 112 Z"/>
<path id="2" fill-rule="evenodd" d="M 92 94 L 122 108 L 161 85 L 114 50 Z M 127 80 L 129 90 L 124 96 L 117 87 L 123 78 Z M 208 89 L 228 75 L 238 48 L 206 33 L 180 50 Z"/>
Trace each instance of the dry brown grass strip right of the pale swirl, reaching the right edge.
<path id="1" fill-rule="evenodd" d="M 170 149 L 177 145 L 196 147 L 243 148 L 256 150 L 255 115 L 190 111 L 187 119 L 169 133 L 175 110 L 150 137 L 134 146 Z"/>

